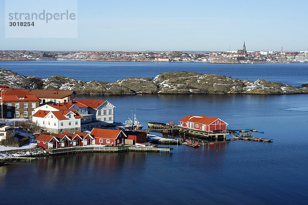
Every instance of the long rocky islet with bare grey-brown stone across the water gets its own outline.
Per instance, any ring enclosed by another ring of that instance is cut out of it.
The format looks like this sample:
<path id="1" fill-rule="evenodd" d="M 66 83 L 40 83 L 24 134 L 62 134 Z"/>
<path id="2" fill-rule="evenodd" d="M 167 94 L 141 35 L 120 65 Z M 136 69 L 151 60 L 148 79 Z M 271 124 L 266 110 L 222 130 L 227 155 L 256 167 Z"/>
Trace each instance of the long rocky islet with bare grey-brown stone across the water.
<path id="1" fill-rule="evenodd" d="M 97 80 L 83 81 L 64 76 L 38 78 L 23 76 L 8 69 L 0 69 L 0 85 L 19 89 L 74 90 L 86 95 L 136 94 L 300 94 L 308 88 L 298 88 L 258 79 L 238 80 L 231 77 L 196 72 L 165 72 L 155 78 L 125 78 L 114 83 Z"/>

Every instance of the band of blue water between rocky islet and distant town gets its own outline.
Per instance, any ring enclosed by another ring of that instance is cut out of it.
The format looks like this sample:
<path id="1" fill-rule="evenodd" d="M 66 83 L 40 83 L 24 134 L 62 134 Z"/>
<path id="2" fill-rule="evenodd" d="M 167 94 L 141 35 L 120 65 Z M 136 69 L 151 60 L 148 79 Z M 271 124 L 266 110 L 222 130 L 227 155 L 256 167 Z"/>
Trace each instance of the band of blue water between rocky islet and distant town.
<path id="1" fill-rule="evenodd" d="M 117 81 L 127 77 L 155 77 L 162 72 L 189 71 L 231 76 L 238 79 L 263 78 L 292 86 L 307 84 L 308 64 L 208 64 L 106 61 L 0 61 L 22 75 L 47 78 L 63 75 L 78 80 Z"/>

